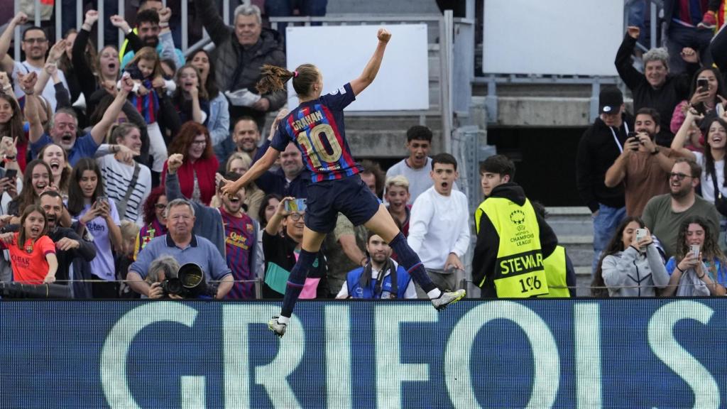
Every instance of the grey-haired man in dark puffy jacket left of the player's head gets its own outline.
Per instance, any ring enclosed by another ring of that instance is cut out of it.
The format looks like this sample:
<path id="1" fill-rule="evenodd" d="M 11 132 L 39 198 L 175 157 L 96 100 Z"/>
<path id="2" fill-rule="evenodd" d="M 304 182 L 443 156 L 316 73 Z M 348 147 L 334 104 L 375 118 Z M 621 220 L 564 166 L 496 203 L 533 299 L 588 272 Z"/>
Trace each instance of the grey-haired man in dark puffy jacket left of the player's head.
<path id="1" fill-rule="evenodd" d="M 257 95 L 255 90 L 262 65 L 285 66 L 280 34 L 262 27 L 260 8 L 255 5 L 245 3 L 238 6 L 235 9 L 234 27 L 230 28 L 217 12 L 216 2 L 195 1 L 194 4 L 209 38 L 214 42 L 212 58 L 220 90 L 250 92 L 244 98 L 246 100 L 231 98 L 230 122 L 234 123 L 238 117 L 249 115 L 262 129 L 265 113 L 277 111 L 286 103 L 285 90 L 265 95 Z"/>

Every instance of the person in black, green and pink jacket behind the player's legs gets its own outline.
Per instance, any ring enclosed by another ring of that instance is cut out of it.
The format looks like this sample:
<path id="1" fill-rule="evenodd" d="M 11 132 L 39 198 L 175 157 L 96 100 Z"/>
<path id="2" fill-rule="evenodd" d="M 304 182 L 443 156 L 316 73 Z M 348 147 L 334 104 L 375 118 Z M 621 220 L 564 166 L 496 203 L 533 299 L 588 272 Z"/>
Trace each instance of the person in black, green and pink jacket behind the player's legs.
<path id="1" fill-rule="evenodd" d="M 262 286 L 262 298 L 283 298 L 290 272 L 300 256 L 305 210 L 302 212 L 286 210 L 286 203 L 294 200 L 294 197 L 286 197 L 279 202 L 276 213 L 270 217 L 262 231 L 262 253 L 265 255 L 265 284 Z M 316 260 L 313 261 L 313 266 L 303 284 L 300 298 L 325 298 L 328 295 L 328 285 L 325 282 L 327 270 L 323 252 L 318 250 Z"/>

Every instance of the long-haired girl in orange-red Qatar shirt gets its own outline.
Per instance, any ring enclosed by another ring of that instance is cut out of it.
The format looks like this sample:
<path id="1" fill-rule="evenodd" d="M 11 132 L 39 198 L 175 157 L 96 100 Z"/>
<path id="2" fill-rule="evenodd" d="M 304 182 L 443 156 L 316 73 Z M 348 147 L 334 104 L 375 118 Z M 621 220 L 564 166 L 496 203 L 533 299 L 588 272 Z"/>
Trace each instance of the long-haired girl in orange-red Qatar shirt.
<path id="1" fill-rule="evenodd" d="M 39 285 L 55 282 L 58 260 L 55 244 L 47 237 L 48 223 L 43 208 L 25 207 L 20 231 L 0 235 L 0 247 L 10 252 L 13 281 Z"/>

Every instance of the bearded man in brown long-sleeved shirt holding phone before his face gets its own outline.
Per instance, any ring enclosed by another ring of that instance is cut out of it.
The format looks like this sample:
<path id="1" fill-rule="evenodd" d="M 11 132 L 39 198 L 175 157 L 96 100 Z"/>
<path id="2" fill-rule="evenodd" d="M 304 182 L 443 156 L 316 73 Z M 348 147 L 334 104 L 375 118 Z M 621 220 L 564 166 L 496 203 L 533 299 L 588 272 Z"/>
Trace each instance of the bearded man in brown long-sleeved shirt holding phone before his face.
<path id="1" fill-rule="evenodd" d="M 669 172 L 680 151 L 656 146 L 659 133 L 659 112 L 640 108 L 634 121 L 635 132 L 629 132 L 624 150 L 606 171 L 604 183 L 615 188 L 624 183 L 626 215 L 640 216 L 649 199 L 669 192 Z"/>

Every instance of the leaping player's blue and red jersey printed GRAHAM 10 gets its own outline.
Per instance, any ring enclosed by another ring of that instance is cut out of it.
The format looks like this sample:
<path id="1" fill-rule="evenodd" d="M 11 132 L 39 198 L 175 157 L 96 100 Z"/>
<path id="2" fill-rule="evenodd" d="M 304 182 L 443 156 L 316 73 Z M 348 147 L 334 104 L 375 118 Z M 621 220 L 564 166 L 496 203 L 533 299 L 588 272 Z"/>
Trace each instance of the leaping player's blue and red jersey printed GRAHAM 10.
<path id="1" fill-rule="evenodd" d="M 358 164 L 343 124 L 343 108 L 355 99 L 351 84 L 345 84 L 332 94 L 301 103 L 278 124 L 270 146 L 284 151 L 290 141 L 296 143 L 313 183 L 356 175 Z"/>

